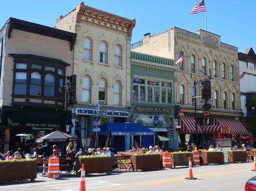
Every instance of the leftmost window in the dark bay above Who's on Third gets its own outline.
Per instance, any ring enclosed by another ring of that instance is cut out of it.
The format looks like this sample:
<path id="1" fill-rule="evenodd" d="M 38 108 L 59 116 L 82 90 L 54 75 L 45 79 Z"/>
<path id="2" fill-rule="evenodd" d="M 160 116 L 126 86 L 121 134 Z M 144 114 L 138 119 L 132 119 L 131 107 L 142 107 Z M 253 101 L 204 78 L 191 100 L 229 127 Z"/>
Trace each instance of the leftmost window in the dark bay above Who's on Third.
<path id="1" fill-rule="evenodd" d="M 26 93 L 27 93 L 27 73 L 16 72 L 14 94 L 15 95 L 26 95 Z"/>

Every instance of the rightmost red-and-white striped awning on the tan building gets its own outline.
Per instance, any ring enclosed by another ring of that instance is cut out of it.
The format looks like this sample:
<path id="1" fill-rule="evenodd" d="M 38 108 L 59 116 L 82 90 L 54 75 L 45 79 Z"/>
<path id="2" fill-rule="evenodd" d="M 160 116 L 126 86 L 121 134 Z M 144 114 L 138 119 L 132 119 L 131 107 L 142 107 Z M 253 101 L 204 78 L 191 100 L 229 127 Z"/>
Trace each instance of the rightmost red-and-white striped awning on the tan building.
<path id="1" fill-rule="evenodd" d="M 245 129 L 245 127 L 242 125 L 242 123 L 239 120 L 235 120 L 235 119 L 221 119 L 221 118 L 217 118 L 217 122 L 220 125 L 227 125 L 230 129 L 231 134 L 240 134 L 240 132 L 242 133 L 242 135 L 248 135 L 248 131 Z"/>

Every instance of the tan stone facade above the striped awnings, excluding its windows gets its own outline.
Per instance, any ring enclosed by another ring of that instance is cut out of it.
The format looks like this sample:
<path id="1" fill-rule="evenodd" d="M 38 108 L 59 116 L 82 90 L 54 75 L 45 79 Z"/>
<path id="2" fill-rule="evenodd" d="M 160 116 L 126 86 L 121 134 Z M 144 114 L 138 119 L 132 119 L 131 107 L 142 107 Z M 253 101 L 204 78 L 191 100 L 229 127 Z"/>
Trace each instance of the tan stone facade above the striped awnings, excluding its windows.
<path id="1" fill-rule="evenodd" d="M 176 65 L 175 71 L 175 102 L 178 105 L 186 106 L 187 109 L 193 108 L 192 88 L 193 81 L 206 79 L 199 70 L 202 68 L 202 59 L 205 59 L 205 71 L 211 74 L 212 99 L 214 100 L 214 91 L 217 92 L 217 107 L 215 101 L 211 104 L 212 112 L 220 115 L 229 115 L 232 117 L 240 117 L 240 86 L 239 86 L 239 66 L 238 66 L 238 49 L 232 45 L 221 42 L 221 36 L 198 30 L 198 33 L 189 32 L 177 27 L 161 32 L 155 35 L 145 35 L 142 39 L 143 44 L 132 49 L 134 52 L 148 53 L 157 56 L 163 56 L 177 61 L 180 58 L 179 53 L 185 54 L 182 65 Z M 195 72 L 191 70 L 191 56 L 195 60 Z M 214 70 L 215 64 L 215 73 Z M 224 64 L 225 77 L 222 78 L 222 63 Z M 231 76 L 231 67 L 233 68 L 233 79 Z M 184 87 L 184 103 L 180 103 L 180 86 Z M 197 96 L 201 95 L 201 88 L 197 87 Z M 224 93 L 226 94 L 226 109 L 224 109 Z M 233 96 L 233 98 L 232 98 Z M 234 104 L 232 103 L 234 99 Z M 200 100 L 200 98 L 198 99 Z M 202 103 L 198 101 L 199 108 Z M 234 108 L 233 108 L 234 107 Z"/>

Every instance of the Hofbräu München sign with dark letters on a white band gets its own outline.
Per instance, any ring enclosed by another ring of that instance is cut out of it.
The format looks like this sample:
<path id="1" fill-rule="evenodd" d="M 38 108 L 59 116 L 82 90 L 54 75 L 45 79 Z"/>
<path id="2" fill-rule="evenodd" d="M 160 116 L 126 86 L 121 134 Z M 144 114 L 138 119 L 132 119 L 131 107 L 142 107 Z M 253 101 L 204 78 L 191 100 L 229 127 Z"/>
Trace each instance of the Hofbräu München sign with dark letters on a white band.
<path id="1" fill-rule="evenodd" d="M 127 111 L 102 110 L 98 112 L 98 115 L 103 115 L 103 117 L 130 117 L 130 112 Z M 97 112 L 95 109 L 76 108 L 76 115 L 94 116 L 97 115 Z"/>

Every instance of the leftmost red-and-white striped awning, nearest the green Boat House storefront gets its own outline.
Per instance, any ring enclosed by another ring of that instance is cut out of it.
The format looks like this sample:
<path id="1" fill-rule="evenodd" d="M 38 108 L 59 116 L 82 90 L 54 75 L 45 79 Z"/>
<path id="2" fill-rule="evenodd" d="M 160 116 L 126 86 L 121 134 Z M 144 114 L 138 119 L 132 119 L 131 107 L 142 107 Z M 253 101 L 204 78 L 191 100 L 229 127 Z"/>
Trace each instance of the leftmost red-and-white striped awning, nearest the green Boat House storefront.
<path id="1" fill-rule="evenodd" d="M 196 127 L 195 127 L 195 119 L 194 117 L 188 117 L 188 116 L 180 116 L 182 124 L 181 124 L 181 133 L 196 133 Z M 198 126 L 198 133 L 202 133 L 202 129 Z"/>

